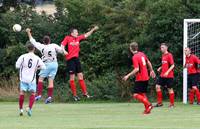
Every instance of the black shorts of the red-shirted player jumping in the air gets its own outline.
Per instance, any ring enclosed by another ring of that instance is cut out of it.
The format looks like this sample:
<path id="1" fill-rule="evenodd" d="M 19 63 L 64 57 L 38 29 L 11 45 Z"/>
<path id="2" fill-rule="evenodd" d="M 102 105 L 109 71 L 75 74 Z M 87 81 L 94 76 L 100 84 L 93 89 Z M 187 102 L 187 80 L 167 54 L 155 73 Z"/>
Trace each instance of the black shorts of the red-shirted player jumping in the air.
<path id="1" fill-rule="evenodd" d="M 76 73 L 81 73 L 82 68 L 81 68 L 81 62 L 79 58 L 72 58 L 67 61 L 67 70 L 69 74 L 76 74 Z"/>

